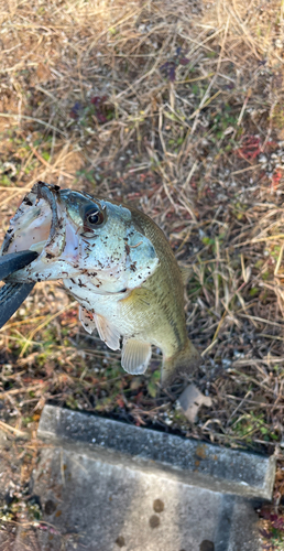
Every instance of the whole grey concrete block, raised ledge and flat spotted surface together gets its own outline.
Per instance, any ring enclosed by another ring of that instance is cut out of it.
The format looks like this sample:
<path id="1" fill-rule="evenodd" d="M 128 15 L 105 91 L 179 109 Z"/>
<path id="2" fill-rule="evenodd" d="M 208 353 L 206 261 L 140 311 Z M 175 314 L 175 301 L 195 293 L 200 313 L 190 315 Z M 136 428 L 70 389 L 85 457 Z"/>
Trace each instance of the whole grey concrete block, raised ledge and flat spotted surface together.
<path id="1" fill-rule="evenodd" d="M 261 550 L 255 500 L 242 486 L 270 497 L 273 460 L 52 406 L 39 436 L 47 443 L 31 487 L 43 509 L 39 550 Z M 14 551 L 23 543 L 19 532 Z"/>

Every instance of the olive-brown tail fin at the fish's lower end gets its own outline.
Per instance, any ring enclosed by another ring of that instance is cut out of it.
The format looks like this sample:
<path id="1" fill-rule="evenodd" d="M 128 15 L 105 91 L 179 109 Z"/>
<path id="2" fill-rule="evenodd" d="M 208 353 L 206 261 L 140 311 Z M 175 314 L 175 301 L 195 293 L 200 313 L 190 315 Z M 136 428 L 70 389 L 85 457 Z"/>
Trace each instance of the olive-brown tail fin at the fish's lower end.
<path id="1" fill-rule="evenodd" d="M 200 363 L 201 357 L 199 353 L 188 339 L 182 350 L 174 356 L 164 358 L 161 377 L 162 387 L 171 385 L 178 375 L 189 374 Z"/>

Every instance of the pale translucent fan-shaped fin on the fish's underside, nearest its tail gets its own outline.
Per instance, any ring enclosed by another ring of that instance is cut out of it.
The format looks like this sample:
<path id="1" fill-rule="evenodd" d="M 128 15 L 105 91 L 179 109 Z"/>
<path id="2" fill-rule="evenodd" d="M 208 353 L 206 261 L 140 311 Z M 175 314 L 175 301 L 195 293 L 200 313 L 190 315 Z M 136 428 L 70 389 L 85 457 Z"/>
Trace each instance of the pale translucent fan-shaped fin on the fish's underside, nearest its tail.
<path id="1" fill-rule="evenodd" d="M 143 374 L 151 358 L 151 344 L 131 337 L 123 341 L 121 365 L 131 375 Z"/>

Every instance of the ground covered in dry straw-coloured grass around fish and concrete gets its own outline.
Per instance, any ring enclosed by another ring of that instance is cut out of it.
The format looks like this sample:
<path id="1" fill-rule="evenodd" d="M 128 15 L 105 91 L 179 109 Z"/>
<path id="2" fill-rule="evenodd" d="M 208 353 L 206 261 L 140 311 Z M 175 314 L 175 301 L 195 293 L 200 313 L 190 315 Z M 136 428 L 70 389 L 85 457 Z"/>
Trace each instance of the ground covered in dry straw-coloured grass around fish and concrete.
<path id="1" fill-rule="evenodd" d="M 263 547 L 283 549 L 282 2 L 11 0 L 0 18 L 0 240 L 37 180 L 141 208 L 190 269 L 188 334 L 204 360 L 165 390 L 159 354 L 129 376 L 59 284 L 37 284 L 0 331 L 0 424 L 18 477 L 2 530 L 12 537 L 30 504 L 52 401 L 274 453 Z M 212 399 L 196 423 L 177 404 L 188 382 Z"/>

